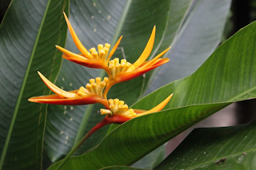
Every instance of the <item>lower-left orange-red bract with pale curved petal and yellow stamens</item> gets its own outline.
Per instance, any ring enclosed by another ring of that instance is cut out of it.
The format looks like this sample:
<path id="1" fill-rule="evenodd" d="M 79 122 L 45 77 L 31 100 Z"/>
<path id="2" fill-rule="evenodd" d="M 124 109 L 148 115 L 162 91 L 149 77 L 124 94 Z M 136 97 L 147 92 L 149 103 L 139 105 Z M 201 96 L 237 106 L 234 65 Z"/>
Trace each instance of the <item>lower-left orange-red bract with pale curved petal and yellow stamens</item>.
<path id="1" fill-rule="evenodd" d="M 103 81 L 100 77 L 90 79 L 90 84 L 88 83 L 86 88 L 80 87 L 77 90 L 66 92 L 50 82 L 42 73 L 38 72 L 38 74 L 47 87 L 55 94 L 31 97 L 29 99 L 31 102 L 53 105 L 89 105 L 101 103 L 106 109 L 109 109 L 107 100 L 102 97 L 103 89 L 109 81 L 107 77 Z"/>

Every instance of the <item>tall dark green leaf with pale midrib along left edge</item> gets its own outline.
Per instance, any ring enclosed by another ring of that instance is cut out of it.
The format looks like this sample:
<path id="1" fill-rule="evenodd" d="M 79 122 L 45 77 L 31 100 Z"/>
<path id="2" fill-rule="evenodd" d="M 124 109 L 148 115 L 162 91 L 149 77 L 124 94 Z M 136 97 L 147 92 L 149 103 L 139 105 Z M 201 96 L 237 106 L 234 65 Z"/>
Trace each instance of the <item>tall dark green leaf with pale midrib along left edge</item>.
<path id="1" fill-rule="evenodd" d="M 65 45 L 62 12 L 69 1 L 14 0 L 0 27 L 0 169 L 40 169 L 46 105 L 28 98 L 50 93 L 38 76 L 54 81 Z M 68 12 L 68 11 L 66 11 Z"/>

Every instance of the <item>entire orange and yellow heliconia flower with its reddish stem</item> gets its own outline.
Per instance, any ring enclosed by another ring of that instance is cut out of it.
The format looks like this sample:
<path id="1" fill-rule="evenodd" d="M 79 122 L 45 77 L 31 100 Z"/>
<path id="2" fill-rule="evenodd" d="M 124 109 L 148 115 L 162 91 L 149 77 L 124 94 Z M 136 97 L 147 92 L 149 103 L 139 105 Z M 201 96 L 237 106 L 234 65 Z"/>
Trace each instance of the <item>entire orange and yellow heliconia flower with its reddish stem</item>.
<path id="1" fill-rule="evenodd" d="M 166 104 L 170 101 L 170 98 L 173 94 L 170 94 L 164 101 L 159 105 L 155 106 L 153 109 L 148 111 L 140 109 L 129 109 L 128 105 L 124 101 L 119 101 L 118 99 L 107 100 L 106 94 L 110 88 L 122 81 L 129 81 L 135 77 L 141 76 L 143 73 L 150 71 L 160 65 L 165 64 L 169 61 L 168 58 L 160 58 L 164 53 L 166 53 L 170 48 L 164 50 L 162 53 L 159 53 L 157 57 L 154 57 L 150 61 L 146 59 L 150 56 L 150 53 L 153 49 L 154 38 L 155 38 L 155 26 L 150 35 L 150 39 L 146 44 L 146 48 L 142 52 L 141 56 L 138 57 L 138 60 L 131 64 L 130 62 L 122 59 L 119 62 L 118 58 L 110 60 L 115 50 L 118 48 L 121 38 L 118 39 L 118 42 L 114 45 L 113 49 L 110 51 L 110 44 L 106 43 L 105 45 L 98 45 L 98 52 L 95 48 L 90 49 L 90 52 L 82 45 L 78 36 L 74 33 L 74 29 L 70 25 L 66 14 L 67 26 L 70 30 L 71 37 L 74 40 L 75 45 L 80 50 L 80 54 L 72 53 L 58 45 L 57 49 L 64 53 L 62 57 L 66 58 L 69 61 L 78 63 L 79 65 L 84 65 L 86 67 L 95 68 L 95 69 L 104 69 L 108 74 L 108 77 L 104 77 L 103 80 L 100 77 L 95 79 L 90 79 L 90 83 L 86 85 L 86 88 L 80 87 L 77 90 L 67 92 L 63 89 L 58 88 L 52 82 L 50 82 L 42 73 L 38 72 L 39 76 L 42 78 L 42 81 L 46 86 L 51 89 L 55 94 L 41 96 L 41 97 L 31 97 L 29 101 L 44 103 L 44 104 L 53 104 L 53 105 L 89 105 L 94 103 L 101 103 L 105 106 L 106 109 L 101 109 L 100 112 L 106 117 L 100 121 L 94 128 L 91 128 L 82 140 L 71 150 L 71 152 L 66 156 L 59 164 L 58 168 L 61 168 L 65 164 L 66 160 L 74 154 L 74 152 L 79 148 L 79 146 L 91 136 L 98 128 L 102 128 L 108 124 L 122 124 L 130 119 L 135 117 L 141 117 L 146 114 L 155 113 L 161 111 Z"/>

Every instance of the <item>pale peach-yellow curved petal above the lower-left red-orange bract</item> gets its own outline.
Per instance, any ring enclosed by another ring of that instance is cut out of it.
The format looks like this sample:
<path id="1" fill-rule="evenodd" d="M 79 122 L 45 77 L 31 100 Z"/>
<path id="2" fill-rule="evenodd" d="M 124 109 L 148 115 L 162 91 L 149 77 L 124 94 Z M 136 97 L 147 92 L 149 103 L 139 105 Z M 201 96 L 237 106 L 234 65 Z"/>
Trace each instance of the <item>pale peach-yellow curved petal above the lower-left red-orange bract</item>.
<path id="1" fill-rule="evenodd" d="M 63 89 L 58 88 L 52 82 L 50 82 L 46 77 L 42 75 L 42 73 L 38 72 L 39 76 L 42 78 L 42 81 L 47 85 L 47 87 L 53 91 L 54 93 L 58 94 L 60 97 L 77 97 L 76 93 L 66 92 Z"/>

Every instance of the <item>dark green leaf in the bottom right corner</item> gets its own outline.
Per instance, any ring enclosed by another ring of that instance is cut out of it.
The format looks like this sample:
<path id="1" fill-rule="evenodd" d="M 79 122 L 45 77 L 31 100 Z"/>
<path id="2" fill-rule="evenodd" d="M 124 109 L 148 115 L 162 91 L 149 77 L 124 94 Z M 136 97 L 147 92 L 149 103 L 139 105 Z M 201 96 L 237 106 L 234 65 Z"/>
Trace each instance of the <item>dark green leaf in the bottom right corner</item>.
<path id="1" fill-rule="evenodd" d="M 254 169 L 255 132 L 256 121 L 233 127 L 194 129 L 154 169 Z"/>

